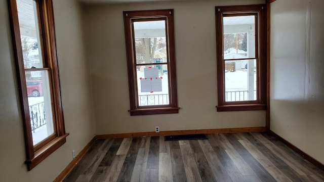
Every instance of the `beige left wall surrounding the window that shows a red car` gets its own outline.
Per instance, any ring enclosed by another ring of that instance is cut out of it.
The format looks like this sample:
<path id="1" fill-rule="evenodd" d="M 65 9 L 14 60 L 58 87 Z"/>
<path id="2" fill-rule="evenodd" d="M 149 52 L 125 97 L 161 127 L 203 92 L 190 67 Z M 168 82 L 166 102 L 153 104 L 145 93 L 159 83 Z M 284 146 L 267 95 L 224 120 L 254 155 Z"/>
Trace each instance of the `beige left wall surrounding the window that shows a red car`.
<path id="1" fill-rule="evenodd" d="M 27 172 L 7 0 L 0 0 L 0 180 L 53 181 L 95 135 L 92 90 L 76 1 L 54 0 L 67 142 Z"/>

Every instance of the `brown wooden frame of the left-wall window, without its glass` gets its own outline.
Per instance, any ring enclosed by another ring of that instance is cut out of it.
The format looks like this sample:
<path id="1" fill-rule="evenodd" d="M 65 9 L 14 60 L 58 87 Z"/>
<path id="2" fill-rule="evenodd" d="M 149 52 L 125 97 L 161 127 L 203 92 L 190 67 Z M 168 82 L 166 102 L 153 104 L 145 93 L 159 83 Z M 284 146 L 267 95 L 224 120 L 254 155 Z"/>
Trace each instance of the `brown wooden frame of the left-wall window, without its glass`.
<path id="1" fill-rule="evenodd" d="M 54 15 L 52 0 L 33 0 L 36 2 L 38 28 L 43 57 L 43 68 L 24 68 L 22 45 L 20 39 L 20 27 L 18 20 L 16 0 L 8 0 L 10 14 L 11 33 L 13 41 L 14 58 L 16 63 L 18 90 L 20 96 L 20 105 L 22 110 L 22 121 L 25 138 L 26 161 L 28 170 L 33 169 L 37 164 L 46 159 L 50 154 L 57 150 L 66 142 L 58 63 L 56 56 L 56 42 L 54 31 Z M 28 96 L 26 87 L 25 71 L 47 70 L 50 83 L 50 94 L 52 102 L 54 133 L 44 141 L 33 145 L 32 130 L 29 116 Z"/>

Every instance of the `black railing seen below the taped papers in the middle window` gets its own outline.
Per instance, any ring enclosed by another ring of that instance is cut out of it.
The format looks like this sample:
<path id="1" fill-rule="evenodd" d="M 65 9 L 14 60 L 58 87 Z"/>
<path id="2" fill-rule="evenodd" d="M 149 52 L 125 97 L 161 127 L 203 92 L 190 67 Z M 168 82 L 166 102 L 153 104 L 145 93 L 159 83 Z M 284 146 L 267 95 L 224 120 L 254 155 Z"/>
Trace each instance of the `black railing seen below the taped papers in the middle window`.
<path id="1" fill-rule="evenodd" d="M 169 104 L 169 94 L 139 95 L 138 98 L 140 106 Z"/>

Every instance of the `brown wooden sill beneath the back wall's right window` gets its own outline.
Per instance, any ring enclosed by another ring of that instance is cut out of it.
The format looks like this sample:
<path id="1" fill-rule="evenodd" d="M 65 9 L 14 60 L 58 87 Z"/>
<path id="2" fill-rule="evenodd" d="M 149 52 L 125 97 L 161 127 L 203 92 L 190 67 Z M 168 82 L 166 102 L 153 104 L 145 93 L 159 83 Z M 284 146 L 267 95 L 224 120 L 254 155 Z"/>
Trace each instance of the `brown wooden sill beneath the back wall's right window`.
<path id="1" fill-rule="evenodd" d="M 266 104 L 236 104 L 236 105 L 225 105 L 216 106 L 217 112 L 222 111 L 256 111 L 256 110 L 266 110 Z"/>

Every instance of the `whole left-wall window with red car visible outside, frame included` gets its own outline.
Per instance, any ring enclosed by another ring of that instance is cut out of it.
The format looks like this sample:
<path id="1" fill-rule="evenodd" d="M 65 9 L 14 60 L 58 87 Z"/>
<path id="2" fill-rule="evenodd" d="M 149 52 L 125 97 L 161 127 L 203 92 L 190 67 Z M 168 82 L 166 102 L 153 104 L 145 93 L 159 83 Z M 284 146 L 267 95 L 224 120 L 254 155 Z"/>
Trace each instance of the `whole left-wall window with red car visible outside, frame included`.
<path id="1" fill-rule="evenodd" d="M 51 0 L 10 0 L 28 170 L 66 142 Z"/>

